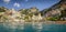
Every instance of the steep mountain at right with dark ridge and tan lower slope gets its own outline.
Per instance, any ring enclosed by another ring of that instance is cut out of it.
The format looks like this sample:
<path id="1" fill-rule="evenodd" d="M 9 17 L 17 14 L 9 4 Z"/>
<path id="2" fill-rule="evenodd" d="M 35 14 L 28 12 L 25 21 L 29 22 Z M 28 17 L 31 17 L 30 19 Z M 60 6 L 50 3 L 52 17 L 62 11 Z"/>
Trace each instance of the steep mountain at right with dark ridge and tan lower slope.
<path id="1" fill-rule="evenodd" d="M 58 3 L 52 6 L 48 9 L 44 9 L 43 11 L 41 11 L 41 13 L 48 18 L 58 18 L 59 20 L 66 20 L 66 0 L 61 0 Z"/>

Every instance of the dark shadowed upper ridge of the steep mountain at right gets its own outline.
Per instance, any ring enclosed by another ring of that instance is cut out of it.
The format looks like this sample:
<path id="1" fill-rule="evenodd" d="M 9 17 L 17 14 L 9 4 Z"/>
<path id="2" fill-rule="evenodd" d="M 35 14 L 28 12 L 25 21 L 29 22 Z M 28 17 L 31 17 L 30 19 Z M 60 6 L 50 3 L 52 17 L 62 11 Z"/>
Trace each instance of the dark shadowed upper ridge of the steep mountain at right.
<path id="1" fill-rule="evenodd" d="M 44 14 L 44 13 L 47 13 L 48 11 L 52 11 L 52 10 L 56 10 L 56 9 L 59 9 L 62 7 L 62 4 L 66 4 L 66 0 L 61 0 L 59 2 L 57 2 L 56 4 L 52 6 L 51 8 L 48 9 L 44 9 L 42 10 L 41 12 Z"/>

